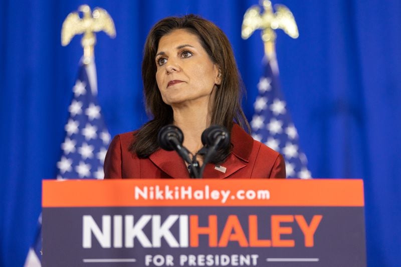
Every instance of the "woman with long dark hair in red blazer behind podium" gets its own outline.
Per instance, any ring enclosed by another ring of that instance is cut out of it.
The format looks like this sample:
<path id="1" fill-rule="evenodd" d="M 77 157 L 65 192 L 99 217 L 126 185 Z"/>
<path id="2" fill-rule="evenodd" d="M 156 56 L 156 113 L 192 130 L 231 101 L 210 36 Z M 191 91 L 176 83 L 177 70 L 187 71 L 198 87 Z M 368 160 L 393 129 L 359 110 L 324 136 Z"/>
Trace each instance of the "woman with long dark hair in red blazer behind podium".
<path id="1" fill-rule="evenodd" d="M 231 145 L 208 163 L 207 178 L 284 178 L 283 157 L 254 140 L 240 105 L 242 81 L 224 32 L 195 15 L 167 17 L 147 36 L 142 62 L 147 111 L 153 119 L 139 130 L 114 137 L 106 154 L 105 178 L 188 178 L 175 151 L 159 147 L 157 133 L 178 126 L 192 154 L 212 124 L 231 132 Z M 198 157 L 200 165 L 202 158 Z"/>

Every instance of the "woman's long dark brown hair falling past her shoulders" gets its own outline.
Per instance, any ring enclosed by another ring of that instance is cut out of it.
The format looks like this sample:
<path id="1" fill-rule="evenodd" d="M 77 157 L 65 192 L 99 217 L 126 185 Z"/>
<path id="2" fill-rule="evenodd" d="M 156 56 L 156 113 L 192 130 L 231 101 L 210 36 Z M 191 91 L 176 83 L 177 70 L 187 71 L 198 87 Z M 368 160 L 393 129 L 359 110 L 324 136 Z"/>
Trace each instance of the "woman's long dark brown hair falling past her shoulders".
<path id="1" fill-rule="evenodd" d="M 148 157 L 159 148 L 157 142 L 159 129 L 173 122 L 172 108 L 163 102 L 157 87 L 155 56 L 160 38 L 175 29 L 186 29 L 197 35 L 211 60 L 221 69 L 222 83 L 216 90 L 211 124 L 223 125 L 231 131 L 235 121 L 250 131 L 248 120 L 241 108 L 241 93 L 244 86 L 226 34 L 211 21 L 197 15 L 166 17 L 152 27 L 143 51 L 143 92 L 146 111 L 152 119 L 135 132 L 135 140 L 129 147 L 140 158 Z M 212 162 L 223 161 L 230 151 L 231 147 L 218 151 Z"/>

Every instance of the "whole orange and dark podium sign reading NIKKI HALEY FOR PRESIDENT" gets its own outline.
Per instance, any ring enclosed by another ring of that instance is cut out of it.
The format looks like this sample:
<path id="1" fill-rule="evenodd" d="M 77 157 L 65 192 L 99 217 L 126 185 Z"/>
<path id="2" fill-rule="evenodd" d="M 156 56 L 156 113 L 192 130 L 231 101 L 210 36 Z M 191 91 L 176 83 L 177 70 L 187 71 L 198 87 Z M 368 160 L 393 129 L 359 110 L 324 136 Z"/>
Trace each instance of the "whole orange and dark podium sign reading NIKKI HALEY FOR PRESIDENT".
<path id="1" fill-rule="evenodd" d="M 362 180 L 43 181 L 43 266 L 366 266 Z"/>

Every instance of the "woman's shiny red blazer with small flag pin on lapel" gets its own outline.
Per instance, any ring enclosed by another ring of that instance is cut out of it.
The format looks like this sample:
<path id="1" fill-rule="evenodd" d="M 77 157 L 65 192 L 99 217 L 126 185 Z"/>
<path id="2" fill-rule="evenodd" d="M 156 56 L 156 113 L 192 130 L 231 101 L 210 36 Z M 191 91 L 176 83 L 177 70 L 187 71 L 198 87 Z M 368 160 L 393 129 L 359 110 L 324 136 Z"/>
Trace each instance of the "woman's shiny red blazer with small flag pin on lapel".
<path id="1" fill-rule="evenodd" d="M 177 152 L 160 148 L 148 158 L 138 158 L 128 150 L 133 139 L 133 132 L 113 138 L 104 161 L 105 178 L 189 178 L 185 162 Z M 285 178 L 283 156 L 254 140 L 238 124 L 233 126 L 231 143 L 232 152 L 221 164 L 226 171 L 208 163 L 205 178 Z"/>

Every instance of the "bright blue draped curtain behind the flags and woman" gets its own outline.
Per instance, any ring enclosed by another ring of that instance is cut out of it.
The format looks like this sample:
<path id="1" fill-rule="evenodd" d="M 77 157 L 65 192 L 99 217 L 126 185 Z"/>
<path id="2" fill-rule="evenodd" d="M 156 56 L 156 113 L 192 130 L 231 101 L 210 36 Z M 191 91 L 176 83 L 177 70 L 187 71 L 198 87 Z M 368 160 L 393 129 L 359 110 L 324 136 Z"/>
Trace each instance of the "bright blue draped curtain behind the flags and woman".
<path id="1" fill-rule="evenodd" d="M 278 1 L 273 1 L 277 3 Z M 22 266 L 41 211 L 41 180 L 54 178 L 82 54 L 60 44 L 61 25 L 82 3 L 114 18 L 117 37 L 97 34 L 99 101 L 111 135 L 147 121 L 140 62 L 158 19 L 197 13 L 232 42 L 253 114 L 262 72 L 257 32 L 240 36 L 258 0 L 6 0 L 0 2 L 0 265 Z M 369 266 L 401 254 L 401 1 L 280 0 L 300 37 L 278 32 L 280 78 L 314 177 L 363 178 Z M 340 223 L 347 223 L 346 221 Z"/>

